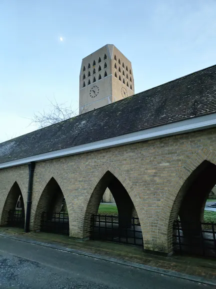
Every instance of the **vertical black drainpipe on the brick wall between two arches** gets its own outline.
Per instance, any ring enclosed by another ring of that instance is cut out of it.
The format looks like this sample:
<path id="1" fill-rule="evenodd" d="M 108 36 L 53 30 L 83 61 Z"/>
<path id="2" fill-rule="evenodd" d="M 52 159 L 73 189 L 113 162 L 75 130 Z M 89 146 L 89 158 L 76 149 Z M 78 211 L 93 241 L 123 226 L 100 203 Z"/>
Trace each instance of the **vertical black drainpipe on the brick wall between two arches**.
<path id="1" fill-rule="evenodd" d="M 34 173 L 35 163 L 31 162 L 28 164 L 28 194 L 27 194 L 27 208 L 26 208 L 26 217 L 25 217 L 25 233 L 28 233 L 30 225 L 30 211 L 31 211 L 31 197 L 32 197 L 32 187 L 33 187 L 33 173 Z"/>

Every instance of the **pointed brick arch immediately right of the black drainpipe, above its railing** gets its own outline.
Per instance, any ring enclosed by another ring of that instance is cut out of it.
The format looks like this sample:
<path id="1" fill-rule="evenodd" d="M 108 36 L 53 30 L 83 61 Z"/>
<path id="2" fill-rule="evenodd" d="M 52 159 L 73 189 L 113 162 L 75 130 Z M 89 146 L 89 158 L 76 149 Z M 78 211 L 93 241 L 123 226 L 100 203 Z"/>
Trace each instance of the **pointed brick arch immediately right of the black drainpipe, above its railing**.
<path id="1" fill-rule="evenodd" d="M 57 210 L 59 210 L 59 203 L 61 202 L 61 199 L 63 200 L 63 198 L 65 199 L 65 202 L 67 204 L 67 196 L 65 196 L 64 194 L 64 187 L 61 186 L 59 183 L 61 182 L 59 178 L 56 176 L 50 177 L 48 181 L 47 179 L 45 179 L 42 185 L 40 186 L 40 192 L 36 194 L 36 198 L 32 203 L 34 206 L 32 206 L 31 210 L 31 220 L 30 220 L 31 230 L 40 229 L 41 213 L 43 211 L 46 211 L 49 208 L 51 208 L 53 209 L 53 211 L 57 212 Z M 56 197 L 55 198 L 56 202 L 50 204 L 50 200 L 54 196 Z M 68 216 L 70 217 L 69 212 Z"/>

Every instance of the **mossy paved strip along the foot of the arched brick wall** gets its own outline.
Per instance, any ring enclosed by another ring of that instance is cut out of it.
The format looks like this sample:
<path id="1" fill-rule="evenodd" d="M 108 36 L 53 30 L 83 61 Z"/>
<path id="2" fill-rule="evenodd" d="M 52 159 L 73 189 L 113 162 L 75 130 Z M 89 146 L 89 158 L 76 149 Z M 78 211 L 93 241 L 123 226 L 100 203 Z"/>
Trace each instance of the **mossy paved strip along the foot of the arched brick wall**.
<path id="1" fill-rule="evenodd" d="M 46 246 L 59 246 L 59 248 L 76 250 L 80 254 L 98 254 L 101 258 L 117 258 L 121 261 L 129 261 L 154 268 L 171 270 L 186 275 L 197 276 L 215 282 L 216 284 L 216 260 L 196 258 L 189 256 L 171 257 L 147 254 L 141 248 L 123 244 L 115 244 L 102 241 L 75 241 L 68 236 L 50 233 L 24 233 L 18 228 L 0 228 L 0 235 L 15 237 L 28 242 L 42 242 Z"/>

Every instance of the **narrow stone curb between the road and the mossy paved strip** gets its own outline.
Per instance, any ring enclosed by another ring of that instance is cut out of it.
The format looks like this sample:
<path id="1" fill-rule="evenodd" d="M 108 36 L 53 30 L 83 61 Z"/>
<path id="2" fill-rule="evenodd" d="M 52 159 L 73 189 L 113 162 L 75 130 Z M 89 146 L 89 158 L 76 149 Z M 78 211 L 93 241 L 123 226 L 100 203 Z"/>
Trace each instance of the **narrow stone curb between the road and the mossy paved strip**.
<path id="1" fill-rule="evenodd" d="M 213 285 L 213 286 L 216 285 L 216 281 L 204 279 L 202 277 L 192 276 L 192 275 L 179 273 L 179 272 L 166 270 L 166 269 L 160 269 L 160 268 L 156 268 L 156 267 L 152 267 L 152 266 L 148 266 L 148 265 L 143 265 L 143 264 L 139 264 L 139 263 L 134 263 L 134 262 L 130 262 L 130 261 L 124 261 L 124 260 L 120 260 L 120 259 L 116 259 L 116 258 L 112 258 L 112 257 L 100 256 L 98 254 L 87 253 L 87 252 L 76 250 L 76 249 L 66 248 L 66 247 L 57 245 L 55 243 L 45 243 L 45 242 L 39 242 L 39 241 L 35 241 L 32 239 L 27 239 L 27 238 L 14 237 L 14 236 L 10 236 L 7 233 L 0 233 L 0 237 L 13 239 L 16 241 L 21 241 L 21 242 L 26 242 L 26 243 L 30 243 L 30 244 L 34 244 L 34 245 L 39 245 L 39 246 L 43 246 L 43 247 L 47 247 L 47 248 L 51 248 L 51 249 L 55 249 L 55 250 L 60 250 L 60 251 L 64 251 L 64 252 L 69 252 L 72 254 L 90 257 L 90 258 L 94 258 L 94 259 L 98 259 L 98 260 L 108 261 L 111 263 L 129 266 L 129 267 L 133 267 L 133 268 L 138 268 L 138 269 L 142 269 L 142 270 L 146 270 L 146 271 L 151 271 L 151 272 L 167 275 L 170 277 L 180 278 L 180 279 L 198 282 L 198 283 L 202 283 L 202 284 L 206 284 L 206 285 Z"/>

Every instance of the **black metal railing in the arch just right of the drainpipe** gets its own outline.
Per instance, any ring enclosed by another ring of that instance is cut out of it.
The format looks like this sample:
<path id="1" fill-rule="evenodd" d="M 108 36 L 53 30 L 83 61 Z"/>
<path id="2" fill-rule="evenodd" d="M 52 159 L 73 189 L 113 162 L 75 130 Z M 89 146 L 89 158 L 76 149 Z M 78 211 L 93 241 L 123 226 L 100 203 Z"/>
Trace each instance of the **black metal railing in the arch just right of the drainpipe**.
<path id="1" fill-rule="evenodd" d="M 69 235 L 69 218 L 68 213 L 42 212 L 41 227 L 42 232 Z"/>

